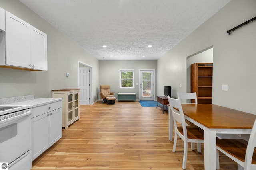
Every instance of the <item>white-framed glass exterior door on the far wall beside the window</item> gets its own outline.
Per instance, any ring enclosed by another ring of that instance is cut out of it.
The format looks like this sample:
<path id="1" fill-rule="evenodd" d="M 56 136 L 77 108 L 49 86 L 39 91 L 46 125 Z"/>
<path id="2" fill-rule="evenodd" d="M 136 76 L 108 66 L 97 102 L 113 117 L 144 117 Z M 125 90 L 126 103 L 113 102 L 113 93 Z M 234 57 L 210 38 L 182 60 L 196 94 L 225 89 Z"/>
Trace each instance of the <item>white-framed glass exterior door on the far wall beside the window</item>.
<path id="1" fill-rule="evenodd" d="M 140 70 L 140 100 L 154 100 L 154 70 Z"/>

